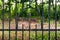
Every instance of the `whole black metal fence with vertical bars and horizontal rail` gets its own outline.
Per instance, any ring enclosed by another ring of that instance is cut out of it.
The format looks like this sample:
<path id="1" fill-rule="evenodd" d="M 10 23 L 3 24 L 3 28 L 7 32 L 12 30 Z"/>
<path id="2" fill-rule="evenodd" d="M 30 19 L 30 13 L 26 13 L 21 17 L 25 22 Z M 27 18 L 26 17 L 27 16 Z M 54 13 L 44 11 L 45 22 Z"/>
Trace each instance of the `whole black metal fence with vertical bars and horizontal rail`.
<path id="1" fill-rule="evenodd" d="M 17 11 L 17 3 L 20 3 L 20 2 L 17 2 L 18 0 L 14 0 L 15 1 L 15 5 L 16 5 L 16 11 Z M 27 0 L 29 2 L 29 7 L 30 8 L 30 1 L 32 0 Z M 24 10 L 24 0 L 21 0 L 22 2 L 22 10 Z M 54 0 L 52 1 L 52 3 L 54 2 Z M 16 29 L 10 29 L 10 0 L 9 0 L 9 29 L 4 29 L 4 0 L 2 0 L 2 29 L 0 29 L 0 31 L 2 31 L 2 40 L 4 40 L 4 31 L 9 31 L 9 40 L 10 40 L 10 32 L 11 31 L 15 31 L 15 40 L 17 40 L 17 31 L 22 31 L 22 40 L 24 40 L 24 31 L 29 31 L 29 40 L 30 40 L 30 31 L 35 31 L 37 34 L 37 31 L 42 31 L 42 40 L 44 40 L 44 37 L 43 37 L 43 34 L 44 34 L 44 31 L 48 31 L 48 40 L 50 40 L 50 31 L 54 31 L 55 32 L 55 40 L 57 40 L 57 31 L 60 31 L 60 29 L 57 29 L 57 13 L 56 13 L 56 5 L 57 5 L 57 1 L 55 0 L 55 4 L 54 4 L 54 13 L 55 13 L 55 29 L 50 29 L 50 6 L 51 6 L 51 0 L 48 0 L 48 29 L 43 29 L 44 27 L 44 0 L 41 0 L 41 3 L 42 3 L 42 14 L 40 14 L 40 11 L 39 11 L 39 7 L 38 7 L 38 4 L 37 4 L 37 0 L 35 0 L 35 8 L 36 8 L 36 11 L 37 13 L 41 16 L 41 29 L 37 29 L 37 25 L 35 25 L 35 29 L 30 29 L 30 24 L 29 24 L 29 29 L 24 29 L 24 25 L 22 25 L 22 29 L 18 29 L 18 14 L 16 12 L 16 18 L 15 18 L 15 22 L 16 22 Z M 31 15 L 29 13 L 28 15 L 28 19 L 30 19 Z M 30 20 L 29 20 L 30 22 Z M 36 35 L 37 37 L 37 35 Z M 36 38 L 37 40 L 37 38 Z"/>

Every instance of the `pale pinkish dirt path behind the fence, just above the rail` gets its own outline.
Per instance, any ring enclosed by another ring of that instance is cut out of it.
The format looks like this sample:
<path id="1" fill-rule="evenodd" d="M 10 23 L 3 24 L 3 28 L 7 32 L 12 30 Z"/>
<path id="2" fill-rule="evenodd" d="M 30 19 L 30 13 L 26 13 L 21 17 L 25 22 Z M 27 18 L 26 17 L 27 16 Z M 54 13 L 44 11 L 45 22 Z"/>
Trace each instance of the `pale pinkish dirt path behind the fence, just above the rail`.
<path id="1" fill-rule="evenodd" d="M 2 23 L 0 23 L 0 28 L 2 28 Z M 24 29 L 29 29 L 29 22 L 28 21 L 18 21 L 18 29 L 22 29 L 22 25 L 24 25 Z M 41 24 L 38 22 L 31 22 L 30 23 L 30 28 L 31 29 L 35 29 L 37 25 L 37 29 L 41 29 Z M 44 29 L 48 29 L 49 25 L 48 23 L 44 23 L 43 24 L 43 28 Z M 8 29 L 9 28 L 9 23 L 8 22 L 4 22 L 4 28 Z M 10 24 L 10 29 L 15 29 L 16 28 L 16 24 L 15 21 L 12 21 Z M 58 29 L 60 29 L 60 27 L 57 27 Z M 55 29 L 55 25 L 53 23 L 50 24 L 50 29 Z"/>

